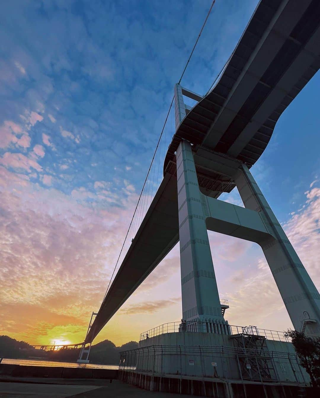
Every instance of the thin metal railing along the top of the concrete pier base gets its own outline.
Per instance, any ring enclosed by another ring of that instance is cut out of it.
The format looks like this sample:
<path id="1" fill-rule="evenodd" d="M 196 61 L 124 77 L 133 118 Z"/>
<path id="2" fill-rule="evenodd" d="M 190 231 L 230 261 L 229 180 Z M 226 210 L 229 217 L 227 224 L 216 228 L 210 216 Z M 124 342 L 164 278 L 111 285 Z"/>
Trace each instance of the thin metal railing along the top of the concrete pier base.
<path id="1" fill-rule="evenodd" d="M 197 330 L 193 330 L 193 332 L 202 332 L 202 333 L 210 332 L 207 326 L 209 322 L 196 322 L 196 323 L 197 323 Z M 168 322 L 166 324 L 156 326 L 153 329 L 149 329 L 146 332 L 141 333 L 139 341 L 152 338 L 155 336 L 160 336 L 161 334 L 165 333 L 179 333 L 182 331 L 181 325 L 182 325 L 181 322 Z M 256 326 L 235 326 L 228 324 L 227 328 L 228 328 L 228 334 L 231 336 L 236 334 L 255 335 L 255 336 L 264 337 L 267 340 L 287 341 L 288 343 L 291 342 L 291 339 L 285 335 L 285 332 L 279 332 L 277 330 L 261 329 L 257 328 Z"/>

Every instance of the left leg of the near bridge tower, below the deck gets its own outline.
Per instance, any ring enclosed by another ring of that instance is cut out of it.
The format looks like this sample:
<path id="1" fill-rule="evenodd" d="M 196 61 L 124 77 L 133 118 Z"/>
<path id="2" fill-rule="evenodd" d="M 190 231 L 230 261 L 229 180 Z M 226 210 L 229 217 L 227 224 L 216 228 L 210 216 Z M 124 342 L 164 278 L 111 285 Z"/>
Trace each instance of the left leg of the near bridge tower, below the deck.
<path id="1" fill-rule="evenodd" d="M 185 140 L 177 150 L 177 181 L 183 319 L 225 324 L 195 162 Z"/>

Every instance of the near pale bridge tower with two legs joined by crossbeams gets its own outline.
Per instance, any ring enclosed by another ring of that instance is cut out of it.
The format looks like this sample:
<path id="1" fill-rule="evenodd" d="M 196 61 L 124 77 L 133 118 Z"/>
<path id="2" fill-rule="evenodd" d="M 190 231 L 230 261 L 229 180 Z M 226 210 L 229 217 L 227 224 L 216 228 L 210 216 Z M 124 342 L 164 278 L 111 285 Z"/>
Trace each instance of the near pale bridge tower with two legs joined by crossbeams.
<path id="1" fill-rule="evenodd" d="M 188 112 L 175 86 L 176 129 Z M 196 163 L 197 162 L 197 163 Z M 228 176 L 245 209 L 204 195 L 197 168 Z M 245 162 L 181 139 L 176 151 L 183 319 L 224 325 L 207 229 L 258 243 L 296 330 L 320 336 L 320 295 Z M 225 328 L 225 326 L 224 326 Z M 223 331 L 224 333 L 224 331 Z"/>

